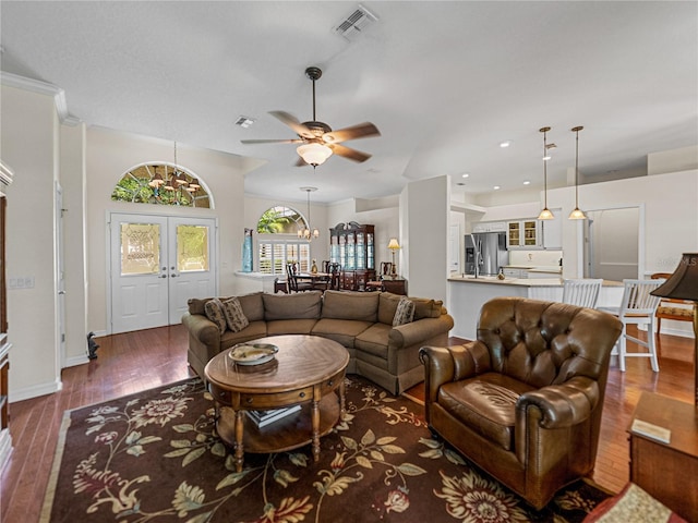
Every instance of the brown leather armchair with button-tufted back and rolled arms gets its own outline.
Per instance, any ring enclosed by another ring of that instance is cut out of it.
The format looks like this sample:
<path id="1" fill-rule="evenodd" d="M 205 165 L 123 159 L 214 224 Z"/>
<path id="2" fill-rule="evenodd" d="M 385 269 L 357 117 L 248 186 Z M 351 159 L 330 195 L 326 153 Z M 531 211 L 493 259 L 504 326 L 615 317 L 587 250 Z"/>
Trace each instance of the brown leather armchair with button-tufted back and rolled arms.
<path id="1" fill-rule="evenodd" d="M 420 350 L 429 426 L 541 509 L 593 471 L 619 333 L 615 317 L 591 308 L 491 300 L 477 341 Z"/>

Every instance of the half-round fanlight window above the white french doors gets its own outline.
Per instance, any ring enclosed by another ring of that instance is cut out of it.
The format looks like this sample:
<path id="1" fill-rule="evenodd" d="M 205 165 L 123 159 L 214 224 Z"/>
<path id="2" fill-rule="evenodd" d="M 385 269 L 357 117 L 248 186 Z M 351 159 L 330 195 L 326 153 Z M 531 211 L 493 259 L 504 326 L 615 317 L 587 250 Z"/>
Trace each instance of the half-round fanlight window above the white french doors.
<path id="1" fill-rule="evenodd" d="M 128 171 L 113 187 L 111 199 L 134 204 L 210 208 L 201 182 L 181 167 L 148 163 Z"/>

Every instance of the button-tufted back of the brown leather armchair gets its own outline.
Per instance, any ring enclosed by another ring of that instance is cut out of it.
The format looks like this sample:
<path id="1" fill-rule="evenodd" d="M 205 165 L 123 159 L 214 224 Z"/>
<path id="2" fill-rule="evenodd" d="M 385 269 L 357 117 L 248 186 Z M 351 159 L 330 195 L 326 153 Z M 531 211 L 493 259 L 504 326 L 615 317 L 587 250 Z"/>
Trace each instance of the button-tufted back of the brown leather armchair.
<path id="1" fill-rule="evenodd" d="M 574 376 L 594 380 L 607 366 L 598 343 L 598 313 L 556 302 L 501 299 L 489 302 L 478 324 L 478 341 L 490 352 L 491 370 L 535 388 Z"/>

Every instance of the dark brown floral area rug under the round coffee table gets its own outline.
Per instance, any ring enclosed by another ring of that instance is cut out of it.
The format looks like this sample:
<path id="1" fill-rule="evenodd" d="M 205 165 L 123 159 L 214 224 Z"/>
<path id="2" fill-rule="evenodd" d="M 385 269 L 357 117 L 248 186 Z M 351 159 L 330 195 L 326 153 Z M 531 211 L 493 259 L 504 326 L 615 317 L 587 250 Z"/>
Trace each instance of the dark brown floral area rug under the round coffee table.
<path id="1" fill-rule="evenodd" d="M 578 522 L 609 497 L 579 482 L 535 512 L 432 439 L 423 408 L 347 378 L 347 415 L 310 446 L 245 454 L 189 379 L 67 411 L 43 522 Z"/>

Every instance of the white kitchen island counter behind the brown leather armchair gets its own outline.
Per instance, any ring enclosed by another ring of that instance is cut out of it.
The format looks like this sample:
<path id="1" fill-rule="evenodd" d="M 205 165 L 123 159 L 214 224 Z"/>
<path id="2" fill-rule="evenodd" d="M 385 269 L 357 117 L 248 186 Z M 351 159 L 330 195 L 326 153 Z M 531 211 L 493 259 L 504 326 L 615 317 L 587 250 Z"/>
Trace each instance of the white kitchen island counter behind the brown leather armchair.
<path id="1" fill-rule="evenodd" d="M 505 278 L 496 276 L 448 278 L 448 313 L 455 325 L 450 336 L 474 340 L 482 305 L 497 296 L 520 296 L 549 302 L 563 297 L 561 278 Z M 617 307 L 623 299 L 623 282 L 604 280 L 599 306 Z"/>

